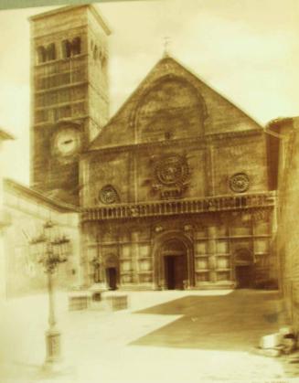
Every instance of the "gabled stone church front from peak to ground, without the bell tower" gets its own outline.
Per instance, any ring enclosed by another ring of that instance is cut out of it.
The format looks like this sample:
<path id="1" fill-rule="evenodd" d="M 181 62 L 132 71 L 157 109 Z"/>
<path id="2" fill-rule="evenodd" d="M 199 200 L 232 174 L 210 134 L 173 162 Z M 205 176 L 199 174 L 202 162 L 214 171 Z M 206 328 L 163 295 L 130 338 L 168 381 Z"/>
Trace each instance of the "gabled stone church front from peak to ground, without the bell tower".
<path id="1" fill-rule="evenodd" d="M 86 283 L 273 285 L 268 149 L 262 126 L 176 59 L 161 59 L 80 155 Z"/>

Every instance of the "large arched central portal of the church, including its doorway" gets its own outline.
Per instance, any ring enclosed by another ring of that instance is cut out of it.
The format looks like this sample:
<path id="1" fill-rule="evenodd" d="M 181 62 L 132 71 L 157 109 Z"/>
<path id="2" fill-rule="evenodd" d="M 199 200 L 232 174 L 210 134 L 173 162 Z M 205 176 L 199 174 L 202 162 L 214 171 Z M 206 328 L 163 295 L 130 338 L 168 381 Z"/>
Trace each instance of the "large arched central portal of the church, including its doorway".
<path id="1" fill-rule="evenodd" d="M 184 233 L 168 232 L 155 240 L 155 287 L 183 290 L 194 286 L 193 244 Z"/>

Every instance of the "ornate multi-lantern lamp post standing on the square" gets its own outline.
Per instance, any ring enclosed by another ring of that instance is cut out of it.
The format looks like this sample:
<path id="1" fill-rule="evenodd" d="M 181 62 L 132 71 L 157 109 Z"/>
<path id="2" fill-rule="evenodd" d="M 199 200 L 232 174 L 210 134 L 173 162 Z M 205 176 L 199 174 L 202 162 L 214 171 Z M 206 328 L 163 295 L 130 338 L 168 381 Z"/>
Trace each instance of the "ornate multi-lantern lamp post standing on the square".
<path id="1" fill-rule="evenodd" d="M 48 277 L 48 331 L 46 332 L 47 356 L 45 367 L 55 368 L 61 361 L 60 332 L 57 328 L 54 300 L 53 274 L 60 263 L 68 260 L 69 239 L 56 231 L 52 221 L 43 225 L 42 232 L 30 240 L 37 262 L 41 263 Z"/>

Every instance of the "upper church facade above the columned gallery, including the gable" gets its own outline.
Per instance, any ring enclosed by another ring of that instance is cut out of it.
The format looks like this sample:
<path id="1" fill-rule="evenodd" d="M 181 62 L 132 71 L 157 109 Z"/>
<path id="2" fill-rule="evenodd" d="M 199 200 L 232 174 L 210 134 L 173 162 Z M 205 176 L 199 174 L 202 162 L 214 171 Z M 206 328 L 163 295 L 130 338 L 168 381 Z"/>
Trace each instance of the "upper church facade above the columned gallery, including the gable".
<path id="1" fill-rule="evenodd" d="M 231 187 L 235 175 L 245 189 Z M 267 191 L 266 137 L 176 60 L 162 59 L 81 157 L 80 184 L 82 207 L 107 204 L 109 190 L 120 203 Z"/>

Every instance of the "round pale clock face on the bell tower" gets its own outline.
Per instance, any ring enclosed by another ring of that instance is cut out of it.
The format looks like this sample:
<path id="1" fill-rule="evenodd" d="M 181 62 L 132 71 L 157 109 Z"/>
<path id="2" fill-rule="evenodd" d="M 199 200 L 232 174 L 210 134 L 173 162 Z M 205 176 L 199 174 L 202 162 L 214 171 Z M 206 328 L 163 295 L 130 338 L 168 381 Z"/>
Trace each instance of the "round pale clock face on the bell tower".
<path id="1" fill-rule="evenodd" d="M 80 131 L 74 127 L 66 126 L 54 135 L 54 153 L 62 158 L 70 159 L 71 156 L 80 152 L 80 147 Z"/>

